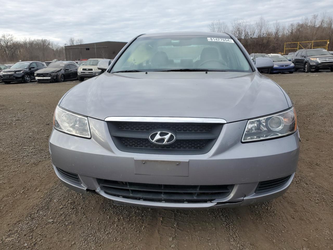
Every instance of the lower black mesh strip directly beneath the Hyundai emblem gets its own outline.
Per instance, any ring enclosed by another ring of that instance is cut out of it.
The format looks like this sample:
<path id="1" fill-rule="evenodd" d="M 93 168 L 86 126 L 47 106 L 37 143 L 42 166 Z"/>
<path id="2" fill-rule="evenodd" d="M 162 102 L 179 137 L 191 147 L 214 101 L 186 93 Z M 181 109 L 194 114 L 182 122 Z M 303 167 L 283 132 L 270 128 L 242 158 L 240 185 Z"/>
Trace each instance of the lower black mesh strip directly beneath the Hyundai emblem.
<path id="1" fill-rule="evenodd" d="M 160 149 L 200 149 L 203 148 L 208 142 L 208 140 L 178 140 L 169 145 L 156 145 L 151 143 L 148 139 L 123 137 L 121 140 L 127 147 Z M 162 141 L 164 141 L 164 139 L 162 139 Z"/>

